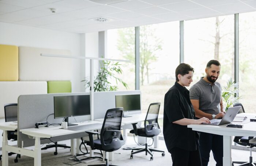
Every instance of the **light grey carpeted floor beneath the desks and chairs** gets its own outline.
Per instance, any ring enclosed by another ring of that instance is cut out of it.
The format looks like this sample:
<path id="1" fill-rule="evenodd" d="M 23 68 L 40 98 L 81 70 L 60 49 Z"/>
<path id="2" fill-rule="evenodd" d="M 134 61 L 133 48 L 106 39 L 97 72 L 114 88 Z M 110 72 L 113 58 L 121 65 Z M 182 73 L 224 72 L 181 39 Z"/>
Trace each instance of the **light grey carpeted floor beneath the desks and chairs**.
<path id="1" fill-rule="evenodd" d="M 150 144 L 151 140 L 149 141 Z M 60 142 L 60 143 L 66 143 L 67 145 L 70 144 L 70 141 L 64 141 L 64 142 Z M 45 145 L 44 145 L 45 146 Z M 123 147 L 135 147 L 136 143 L 134 142 L 134 139 L 132 136 L 128 136 L 128 140 L 127 140 L 127 144 L 124 145 Z M 149 155 L 145 155 L 144 153 L 139 153 L 139 154 L 135 154 L 133 155 L 133 159 L 130 159 L 130 150 L 117 150 L 115 151 L 115 160 L 114 161 L 110 161 L 110 163 L 114 164 L 114 165 L 119 165 L 119 166 L 130 166 L 130 165 L 134 165 L 134 166 L 170 166 L 172 165 L 172 158 L 170 156 L 170 154 L 167 152 L 166 147 L 165 147 L 165 143 L 163 140 L 159 140 L 159 150 L 164 150 L 166 155 L 165 157 L 161 156 L 161 153 L 154 153 L 154 160 L 150 161 L 150 156 Z M 83 148 L 83 150 L 85 151 L 85 148 Z M 42 166 L 69 166 L 68 164 L 65 163 L 69 163 L 69 164 L 75 164 L 75 166 L 87 166 L 87 165 L 91 165 L 91 164 L 102 164 L 103 162 L 100 160 L 96 160 L 96 161 L 92 161 L 89 163 L 78 163 L 78 162 L 74 162 L 73 160 L 71 160 L 70 158 L 72 158 L 72 156 L 70 155 L 70 151 L 69 149 L 65 149 L 65 148 L 59 148 L 58 149 L 58 155 L 53 155 L 54 149 L 50 148 L 48 150 L 42 150 Z M 1 152 L 0 152 L 1 153 Z M 256 159 L 256 152 L 253 152 L 253 157 Z M 30 157 L 26 157 L 26 156 L 22 156 L 21 158 L 19 158 L 19 162 L 18 163 L 14 163 L 14 158 L 15 155 L 12 155 L 9 157 L 9 166 L 32 166 L 34 164 L 34 159 L 30 158 Z M 248 161 L 249 159 L 249 151 L 244 151 L 244 150 L 234 150 L 232 149 L 232 159 L 234 161 Z M 209 162 L 209 166 L 215 166 L 215 161 L 213 159 L 213 156 L 211 154 L 210 157 L 210 162 Z M 0 162 L 1 165 L 1 162 Z"/>

